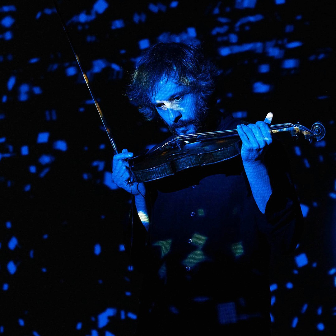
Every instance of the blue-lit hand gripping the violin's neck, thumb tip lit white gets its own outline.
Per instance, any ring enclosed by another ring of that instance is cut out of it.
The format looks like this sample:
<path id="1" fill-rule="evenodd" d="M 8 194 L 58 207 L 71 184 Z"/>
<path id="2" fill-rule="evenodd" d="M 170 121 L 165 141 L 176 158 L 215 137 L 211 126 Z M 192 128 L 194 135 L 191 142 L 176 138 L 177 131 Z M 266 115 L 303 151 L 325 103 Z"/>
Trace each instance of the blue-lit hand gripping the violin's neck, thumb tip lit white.
<path id="1" fill-rule="evenodd" d="M 237 126 L 238 134 L 243 142 L 241 151 L 243 162 L 253 163 L 261 160 L 265 148 L 272 143 L 272 133 L 269 127 L 272 118 L 273 114 L 268 113 L 264 121 Z"/>

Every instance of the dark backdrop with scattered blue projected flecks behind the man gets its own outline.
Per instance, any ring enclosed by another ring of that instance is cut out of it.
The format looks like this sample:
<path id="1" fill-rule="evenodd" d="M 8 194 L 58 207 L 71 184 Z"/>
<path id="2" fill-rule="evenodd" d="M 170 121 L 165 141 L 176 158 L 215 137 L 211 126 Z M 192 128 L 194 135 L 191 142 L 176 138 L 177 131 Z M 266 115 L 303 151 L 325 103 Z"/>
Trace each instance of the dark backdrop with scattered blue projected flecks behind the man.
<path id="1" fill-rule="evenodd" d="M 333 133 L 327 4 L 58 3 L 122 148 L 136 153 L 167 136 L 165 127 L 146 131 L 122 100 L 129 72 L 157 41 L 211 46 L 222 71 L 218 106 L 233 116 L 255 122 L 273 112 L 279 123 L 320 120 Z M 120 232 L 129 199 L 112 182 L 109 139 L 62 34 L 50 3 L 0 5 L 0 290 L 8 307 L 0 334 L 48 335 L 52 320 L 63 322 L 64 335 L 132 335 L 137 275 Z M 294 258 L 271 278 L 271 321 L 275 335 L 329 335 L 336 314 L 329 302 L 336 288 L 335 147 L 326 137 L 289 151 L 307 228 Z M 244 253 L 239 243 L 232 251 Z M 202 246 L 198 252 L 201 260 Z M 235 320 L 234 308 L 219 307 L 223 323 Z"/>

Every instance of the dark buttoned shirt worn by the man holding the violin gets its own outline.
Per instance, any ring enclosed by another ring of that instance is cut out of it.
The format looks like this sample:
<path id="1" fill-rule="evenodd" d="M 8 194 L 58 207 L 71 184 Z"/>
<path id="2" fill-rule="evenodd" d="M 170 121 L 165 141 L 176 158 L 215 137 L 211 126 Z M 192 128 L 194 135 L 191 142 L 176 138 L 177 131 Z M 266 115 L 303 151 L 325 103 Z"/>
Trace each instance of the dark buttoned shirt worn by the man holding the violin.
<path id="1" fill-rule="evenodd" d="M 218 130 L 239 123 L 227 116 Z M 144 273 L 136 335 L 270 335 L 269 262 L 295 249 L 302 228 L 284 155 L 274 140 L 264 156 L 265 214 L 240 155 L 146 183 L 149 232 L 133 224 Z"/>

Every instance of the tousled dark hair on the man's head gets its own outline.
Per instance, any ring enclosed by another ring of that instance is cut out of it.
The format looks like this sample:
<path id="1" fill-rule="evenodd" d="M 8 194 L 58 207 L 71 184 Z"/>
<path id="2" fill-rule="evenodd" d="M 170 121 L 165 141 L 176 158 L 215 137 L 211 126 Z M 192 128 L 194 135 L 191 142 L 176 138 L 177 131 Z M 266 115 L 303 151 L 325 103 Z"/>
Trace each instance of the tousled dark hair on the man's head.
<path id="1" fill-rule="evenodd" d="M 173 76 L 177 83 L 188 86 L 190 92 L 205 102 L 214 90 L 216 75 L 218 70 L 205 58 L 199 47 L 159 42 L 146 50 L 136 65 L 127 95 L 146 120 L 153 120 L 157 112 L 149 97 L 156 92 L 160 80 Z"/>

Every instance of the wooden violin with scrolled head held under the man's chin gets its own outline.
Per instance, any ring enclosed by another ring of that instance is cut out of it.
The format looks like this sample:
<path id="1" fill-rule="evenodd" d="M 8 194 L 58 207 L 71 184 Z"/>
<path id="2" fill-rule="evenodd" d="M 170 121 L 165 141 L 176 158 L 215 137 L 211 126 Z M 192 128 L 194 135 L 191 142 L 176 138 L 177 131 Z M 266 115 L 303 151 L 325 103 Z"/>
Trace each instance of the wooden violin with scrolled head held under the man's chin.
<path id="1" fill-rule="evenodd" d="M 316 122 L 311 130 L 300 124 L 271 125 L 275 136 L 303 137 L 320 141 L 325 127 Z M 229 160 L 241 153 L 242 141 L 237 129 L 179 135 L 144 155 L 128 160 L 136 182 L 149 182 L 196 166 L 206 166 Z"/>

